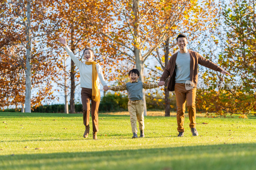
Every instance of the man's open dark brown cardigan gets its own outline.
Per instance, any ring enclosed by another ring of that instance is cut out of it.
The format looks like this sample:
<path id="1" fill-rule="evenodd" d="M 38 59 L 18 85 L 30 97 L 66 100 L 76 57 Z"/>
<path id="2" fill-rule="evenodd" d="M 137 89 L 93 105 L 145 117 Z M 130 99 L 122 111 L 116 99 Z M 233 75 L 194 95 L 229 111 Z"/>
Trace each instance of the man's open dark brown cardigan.
<path id="1" fill-rule="evenodd" d="M 190 54 L 190 81 L 192 81 L 195 84 L 195 87 L 197 85 L 198 81 L 198 74 L 197 74 L 197 66 L 198 64 L 210 68 L 215 71 L 222 72 L 222 68 L 219 67 L 217 64 L 214 64 L 212 61 L 207 60 L 203 56 L 201 56 L 199 53 L 196 53 L 195 51 L 188 50 Z M 160 81 L 165 81 L 169 76 L 170 79 L 167 84 L 167 90 L 168 91 L 174 91 L 175 86 L 175 64 L 177 59 L 178 52 L 173 54 L 164 69 L 164 73 L 162 77 L 160 78 Z"/>

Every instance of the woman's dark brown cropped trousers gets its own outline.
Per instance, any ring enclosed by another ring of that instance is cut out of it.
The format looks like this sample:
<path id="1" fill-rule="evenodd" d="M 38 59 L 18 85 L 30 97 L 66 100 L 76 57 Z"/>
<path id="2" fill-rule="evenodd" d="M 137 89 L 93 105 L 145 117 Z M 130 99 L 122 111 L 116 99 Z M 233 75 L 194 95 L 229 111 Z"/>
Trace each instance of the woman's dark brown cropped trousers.
<path id="1" fill-rule="evenodd" d="M 99 90 L 100 94 L 100 90 Z M 83 88 L 81 90 L 81 100 L 83 105 L 83 118 L 84 118 L 84 125 L 89 125 L 89 118 L 90 118 L 90 100 L 92 99 L 92 89 Z M 98 110 L 100 102 L 95 102 L 91 100 L 92 103 L 92 131 L 97 132 L 99 131 L 99 117 L 98 117 Z"/>

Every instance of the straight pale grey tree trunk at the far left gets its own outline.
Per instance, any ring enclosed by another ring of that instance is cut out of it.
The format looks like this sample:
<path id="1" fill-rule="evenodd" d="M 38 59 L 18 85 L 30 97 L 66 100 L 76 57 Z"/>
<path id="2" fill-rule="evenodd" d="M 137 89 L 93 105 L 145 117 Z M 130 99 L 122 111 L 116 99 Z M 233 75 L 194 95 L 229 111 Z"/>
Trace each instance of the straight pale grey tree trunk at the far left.
<path id="1" fill-rule="evenodd" d="M 31 113 L 31 3 L 27 1 L 27 28 L 26 28 L 26 91 L 25 91 L 25 112 Z"/>

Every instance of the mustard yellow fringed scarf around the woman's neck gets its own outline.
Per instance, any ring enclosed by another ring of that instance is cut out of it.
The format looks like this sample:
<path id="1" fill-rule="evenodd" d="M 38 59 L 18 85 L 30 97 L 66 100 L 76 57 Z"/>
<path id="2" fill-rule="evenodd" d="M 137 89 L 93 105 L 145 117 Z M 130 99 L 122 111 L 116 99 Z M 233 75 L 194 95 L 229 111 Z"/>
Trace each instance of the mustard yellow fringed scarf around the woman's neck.
<path id="1" fill-rule="evenodd" d="M 86 65 L 91 65 L 92 64 L 92 100 L 95 102 L 100 102 L 100 94 L 99 94 L 99 89 L 98 89 L 98 83 L 97 83 L 97 77 L 98 77 L 98 72 L 96 68 L 96 62 L 94 61 L 85 61 Z"/>

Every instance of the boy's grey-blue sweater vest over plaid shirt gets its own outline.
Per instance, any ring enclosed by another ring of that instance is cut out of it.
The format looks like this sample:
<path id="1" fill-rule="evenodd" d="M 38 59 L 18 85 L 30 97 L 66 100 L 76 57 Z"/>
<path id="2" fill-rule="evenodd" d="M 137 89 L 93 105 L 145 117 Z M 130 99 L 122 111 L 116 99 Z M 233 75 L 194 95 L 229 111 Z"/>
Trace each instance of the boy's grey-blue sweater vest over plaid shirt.
<path id="1" fill-rule="evenodd" d="M 143 98 L 142 89 L 143 89 L 143 84 L 141 81 L 134 82 L 134 83 L 131 83 L 131 82 L 126 83 L 128 99 L 132 101 L 142 100 Z"/>

